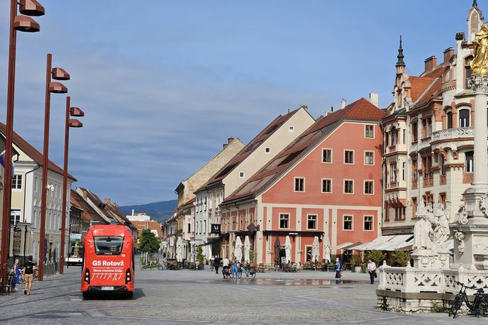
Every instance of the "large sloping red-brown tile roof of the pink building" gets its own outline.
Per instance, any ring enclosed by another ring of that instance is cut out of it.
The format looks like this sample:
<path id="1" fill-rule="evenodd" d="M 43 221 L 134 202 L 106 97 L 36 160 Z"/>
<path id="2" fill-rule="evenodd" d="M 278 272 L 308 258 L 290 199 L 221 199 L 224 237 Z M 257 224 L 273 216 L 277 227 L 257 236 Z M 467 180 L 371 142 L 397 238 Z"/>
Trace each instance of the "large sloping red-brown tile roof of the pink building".
<path id="1" fill-rule="evenodd" d="M 314 149 L 317 143 L 323 141 L 343 121 L 379 121 L 384 116 L 384 111 L 370 103 L 366 99 L 359 99 L 339 111 L 323 116 L 323 118 L 312 124 L 304 133 L 276 155 L 270 163 L 256 172 L 243 185 L 235 190 L 223 203 L 254 196 L 265 190 L 284 172 L 287 172 L 296 161 Z"/>

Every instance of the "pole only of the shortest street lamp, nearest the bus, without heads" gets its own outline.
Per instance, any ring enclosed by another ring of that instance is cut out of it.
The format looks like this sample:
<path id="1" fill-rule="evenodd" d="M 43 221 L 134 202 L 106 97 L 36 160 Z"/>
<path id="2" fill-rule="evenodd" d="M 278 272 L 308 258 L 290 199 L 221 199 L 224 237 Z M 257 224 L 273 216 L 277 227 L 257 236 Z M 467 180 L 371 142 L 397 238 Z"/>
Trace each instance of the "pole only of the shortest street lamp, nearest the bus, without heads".
<path id="1" fill-rule="evenodd" d="M 62 212 L 61 212 L 61 252 L 60 252 L 60 274 L 64 273 L 65 266 L 65 231 L 66 231 L 66 200 L 68 183 L 68 146 L 70 144 L 70 106 L 71 97 L 66 97 L 66 119 L 65 119 L 65 165 L 62 170 Z M 71 227 L 70 227 L 71 229 Z M 70 234 L 71 235 L 71 234 Z M 68 238 L 68 248 L 70 238 Z"/>

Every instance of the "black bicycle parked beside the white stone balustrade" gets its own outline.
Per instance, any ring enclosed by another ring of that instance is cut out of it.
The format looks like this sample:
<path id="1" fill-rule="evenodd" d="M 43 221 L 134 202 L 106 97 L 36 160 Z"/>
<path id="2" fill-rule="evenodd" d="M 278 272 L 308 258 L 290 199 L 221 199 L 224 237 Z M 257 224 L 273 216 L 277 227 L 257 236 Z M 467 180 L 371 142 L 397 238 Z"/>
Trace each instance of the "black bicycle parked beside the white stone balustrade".
<path id="1" fill-rule="evenodd" d="M 470 314 L 479 317 L 479 315 L 483 317 L 488 317 L 488 294 L 484 293 L 484 290 L 472 285 L 468 287 L 467 285 L 455 281 L 457 285 L 460 285 L 461 288 L 459 292 L 457 292 L 456 296 L 454 297 L 453 305 L 449 309 L 449 317 L 453 315 L 453 319 L 456 317 L 457 312 L 462 307 L 462 302 L 465 302 L 468 309 L 470 309 Z M 466 290 L 476 290 L 475 300 L 470 302 L 467 298 Z"/>

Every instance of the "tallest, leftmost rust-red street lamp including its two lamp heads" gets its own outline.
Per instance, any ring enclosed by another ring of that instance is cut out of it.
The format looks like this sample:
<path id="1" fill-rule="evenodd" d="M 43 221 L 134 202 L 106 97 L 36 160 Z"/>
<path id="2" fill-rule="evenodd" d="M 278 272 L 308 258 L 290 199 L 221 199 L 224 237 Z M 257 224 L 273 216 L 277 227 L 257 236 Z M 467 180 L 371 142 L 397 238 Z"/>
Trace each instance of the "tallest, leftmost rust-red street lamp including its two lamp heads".
<path id="1" fill-rule="evenodd" d="M 16 31 L 34 33 L 40 31 L 39 24 L 28 16 L 43 16 L 43 6 L 35 0 L 21 0 L 20 11 L 24 15 L 17 15 L 17 0 L 10 1 L 10 27 L 9 27 L 9 77 L 7 85 L 7 113 L 6 113 L 6 143 L 5 143 L 5 170 L 4 170 L 4 211 L 1 224 L 1 255 L 0 277 L 1 285 L 6 285 L 7 260 L 9 258 L 9 225 L 11 206 L 12 182 L 12 137 L 13 137 L 13 99 L 15 94 L 15 62 L 16 62 Z"/>

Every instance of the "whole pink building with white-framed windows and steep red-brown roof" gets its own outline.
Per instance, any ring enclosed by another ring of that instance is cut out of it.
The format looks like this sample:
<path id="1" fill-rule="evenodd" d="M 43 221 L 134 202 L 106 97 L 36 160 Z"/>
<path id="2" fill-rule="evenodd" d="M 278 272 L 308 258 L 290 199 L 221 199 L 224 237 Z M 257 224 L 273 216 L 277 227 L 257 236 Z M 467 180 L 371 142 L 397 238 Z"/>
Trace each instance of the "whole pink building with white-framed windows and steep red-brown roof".
<path id="1" fill-rule="evenodd" d="M 237 236 L 243 243 L 248 236 L 257 263 L 303 264 L 375 239 L 382 116 L 366 99 L 323 116 L 226 197 L 223 254 L 233 255 Z"/>

